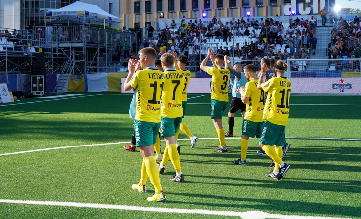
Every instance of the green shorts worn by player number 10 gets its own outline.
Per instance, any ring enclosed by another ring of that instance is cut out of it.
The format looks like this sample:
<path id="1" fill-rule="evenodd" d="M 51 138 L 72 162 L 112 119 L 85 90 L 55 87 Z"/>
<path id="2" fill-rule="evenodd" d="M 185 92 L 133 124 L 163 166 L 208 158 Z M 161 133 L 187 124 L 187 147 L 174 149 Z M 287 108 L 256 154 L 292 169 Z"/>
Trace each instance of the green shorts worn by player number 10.
<path id="1" fill-rule="evenodd" d="M 267 120 L 264 120 L 261 130 L 260 143 L 271 146 L 285 145 L 286 144 L 286 139 L 284 136 L 285 130 L 286 130 L 286 126 L 276 125 Z"/>

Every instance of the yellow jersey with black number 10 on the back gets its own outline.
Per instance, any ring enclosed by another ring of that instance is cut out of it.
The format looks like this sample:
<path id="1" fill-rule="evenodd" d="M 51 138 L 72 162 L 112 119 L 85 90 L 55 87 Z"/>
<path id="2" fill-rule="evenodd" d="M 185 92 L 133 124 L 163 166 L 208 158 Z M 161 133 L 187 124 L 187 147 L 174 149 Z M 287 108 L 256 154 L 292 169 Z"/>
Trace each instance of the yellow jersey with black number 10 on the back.
<path id="1" fill-rule="evenodd" d="M 265 92 L 268 91 L 268 100 L 263 115 L 271 123 L 285 126 L 290 113 L 291 81 L 286 77 L 273 77 L 262 83 Z"/>

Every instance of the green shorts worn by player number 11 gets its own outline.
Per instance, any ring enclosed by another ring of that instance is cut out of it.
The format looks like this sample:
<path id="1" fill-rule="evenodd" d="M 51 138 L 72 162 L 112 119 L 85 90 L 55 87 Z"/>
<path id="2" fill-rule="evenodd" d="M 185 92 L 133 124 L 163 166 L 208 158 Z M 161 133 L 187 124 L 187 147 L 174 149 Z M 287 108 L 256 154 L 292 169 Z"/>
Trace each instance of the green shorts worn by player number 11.
<path id="1" fill-rule="evenodd" d="M 143 122 L 134 120 L 134 134 L 138 146 L 154 145 L 157 140 L 160 123 Z"/>

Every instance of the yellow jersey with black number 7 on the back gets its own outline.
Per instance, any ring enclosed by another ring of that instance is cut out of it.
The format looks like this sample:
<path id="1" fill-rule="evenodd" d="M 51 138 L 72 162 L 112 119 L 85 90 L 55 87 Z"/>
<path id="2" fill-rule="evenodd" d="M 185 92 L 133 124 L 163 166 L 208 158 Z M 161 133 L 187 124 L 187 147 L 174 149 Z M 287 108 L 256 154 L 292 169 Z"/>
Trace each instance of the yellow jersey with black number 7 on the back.
<path id="1" fill-rule="evenodd" d="M 177 70 L 164 72 L 164 89 L 161 97 L 161 116 L 178 118 L 183 116 L 182 94 L 184 75 Z"/>

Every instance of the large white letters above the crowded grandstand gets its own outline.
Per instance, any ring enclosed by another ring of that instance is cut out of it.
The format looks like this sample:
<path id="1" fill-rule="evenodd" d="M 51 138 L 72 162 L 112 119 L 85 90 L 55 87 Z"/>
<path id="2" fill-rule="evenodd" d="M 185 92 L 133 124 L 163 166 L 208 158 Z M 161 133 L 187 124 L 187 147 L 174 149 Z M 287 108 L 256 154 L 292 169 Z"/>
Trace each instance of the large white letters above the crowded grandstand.
<path id="1" fill-rule="evenodd" d="M 298 11 L 299 15 L 309 15 L 311 14 L 311 7 L 305 7 L 305 4 L 311 3 L 311 0 L 305 0 L 304 3 L 296 4 L 296 0 L 291 0 L 291 4 L 285 4 L 283 8 L 284 15 L 291 15 L 292 11 Z M 298 10 L 296 10 L 296 6 L 298 6 Z M 320 0 L 320 4 L 318 0 L 312 0 L 312 14 L 319 14 L 320 10 L 326 6 L 325 0 Z M 321 18 L 321 16 L 320 16 Z"/>

